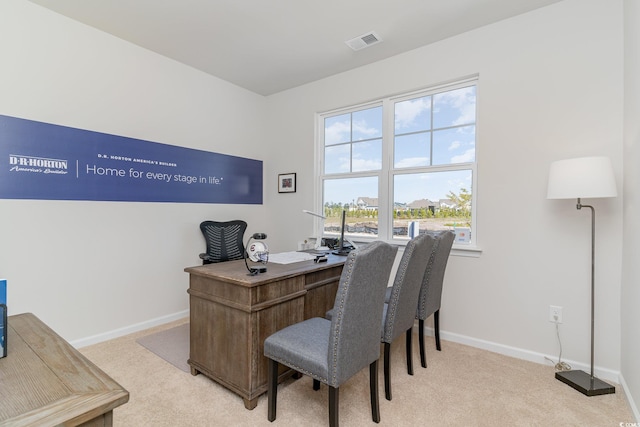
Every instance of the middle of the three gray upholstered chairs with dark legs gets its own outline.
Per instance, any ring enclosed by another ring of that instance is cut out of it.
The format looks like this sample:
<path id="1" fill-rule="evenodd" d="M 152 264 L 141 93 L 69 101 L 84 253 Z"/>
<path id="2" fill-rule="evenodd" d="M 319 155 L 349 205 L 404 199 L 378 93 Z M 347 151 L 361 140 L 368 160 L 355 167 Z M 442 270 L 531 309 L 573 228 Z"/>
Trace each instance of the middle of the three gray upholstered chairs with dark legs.
<path id="1" fill-rule="evenodd" d="M 384 390 L 387 400 L 391 400 L 391 343 L 402 334 L 406 336 L 407 372 L 413 375 L 411 343 L 415 307 L 426 264 L 435 245 L 436 238 L 430 234 L 410 240 L 398 264 L 393 285 L 387 290 L 381 338 L 384 343 Z"/>

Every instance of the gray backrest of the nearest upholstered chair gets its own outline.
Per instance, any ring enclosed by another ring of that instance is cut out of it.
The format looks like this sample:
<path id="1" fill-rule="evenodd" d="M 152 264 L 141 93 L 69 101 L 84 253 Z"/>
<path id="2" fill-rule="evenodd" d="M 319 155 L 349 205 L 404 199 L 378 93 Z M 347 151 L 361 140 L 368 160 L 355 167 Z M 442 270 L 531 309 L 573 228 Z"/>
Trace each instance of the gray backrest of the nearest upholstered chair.
<path id="1" fill-rule="evenodd" d="M 375 241 L 348 255 L 331 318 L 328 385 L 339 387 L 379 359 L 382 306 L 396 252 Z"/>

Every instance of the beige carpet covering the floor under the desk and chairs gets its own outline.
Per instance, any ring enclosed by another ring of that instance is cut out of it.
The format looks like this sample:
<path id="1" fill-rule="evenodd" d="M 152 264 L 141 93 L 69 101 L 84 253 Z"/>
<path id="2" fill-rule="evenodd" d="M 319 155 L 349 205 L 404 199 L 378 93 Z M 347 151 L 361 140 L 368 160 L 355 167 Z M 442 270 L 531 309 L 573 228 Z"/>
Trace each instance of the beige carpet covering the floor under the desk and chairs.
<path id="1" fill-rule="evenodd" d="M 309 377 L 278 388 L 275 422 L 267 420 L 266 395 L 248 411 L 242 399 L 203 375 L 192 376 L 139 345 L 136 340 L 186 323 L 85 347 L 80 351 L 130 393 L 114 410 L 115 426 L 323 426 L 328 425 L 327 388 L 314 392 Z M 461 344 L 427 340 L 429 367 L 420 367 L 414 336 L 415 375 L 406 373 L 404 339 L 392 346 L 393 400 L 384 399 L 380 363 L 380 426 L 618 426 L 634 422 L 621 388 L 587 397 L 540 365 Z M 340 389 L 343 427 L 373 426 L 368 369 Z"/>

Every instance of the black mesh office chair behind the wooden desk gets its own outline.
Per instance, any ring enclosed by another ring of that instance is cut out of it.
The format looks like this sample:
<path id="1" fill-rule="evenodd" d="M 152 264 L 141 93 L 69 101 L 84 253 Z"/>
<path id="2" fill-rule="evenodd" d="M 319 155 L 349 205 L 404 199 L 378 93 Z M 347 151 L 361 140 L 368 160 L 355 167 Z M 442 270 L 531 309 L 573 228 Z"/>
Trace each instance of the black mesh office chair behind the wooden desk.
<path id="1" fill-rule="evenodd" d="M 234 221 L 202 221 L 200 230 L 207 242 L 207 252 L 200 254 L 202 264 L 244 258 L 244 232 L 247 223 Z"/>

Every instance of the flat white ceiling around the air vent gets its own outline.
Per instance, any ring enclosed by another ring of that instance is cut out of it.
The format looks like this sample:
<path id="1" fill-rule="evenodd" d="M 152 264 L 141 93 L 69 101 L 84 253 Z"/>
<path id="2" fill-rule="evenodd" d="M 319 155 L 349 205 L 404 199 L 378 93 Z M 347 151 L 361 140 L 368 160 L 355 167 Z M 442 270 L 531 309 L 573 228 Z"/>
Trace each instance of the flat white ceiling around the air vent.
<path id="1" fill-rule="evenodd" d="M 261 95 L 561 0 L 30 0 Z M 345 41 L 375 32 L 354 51 Z"/>

